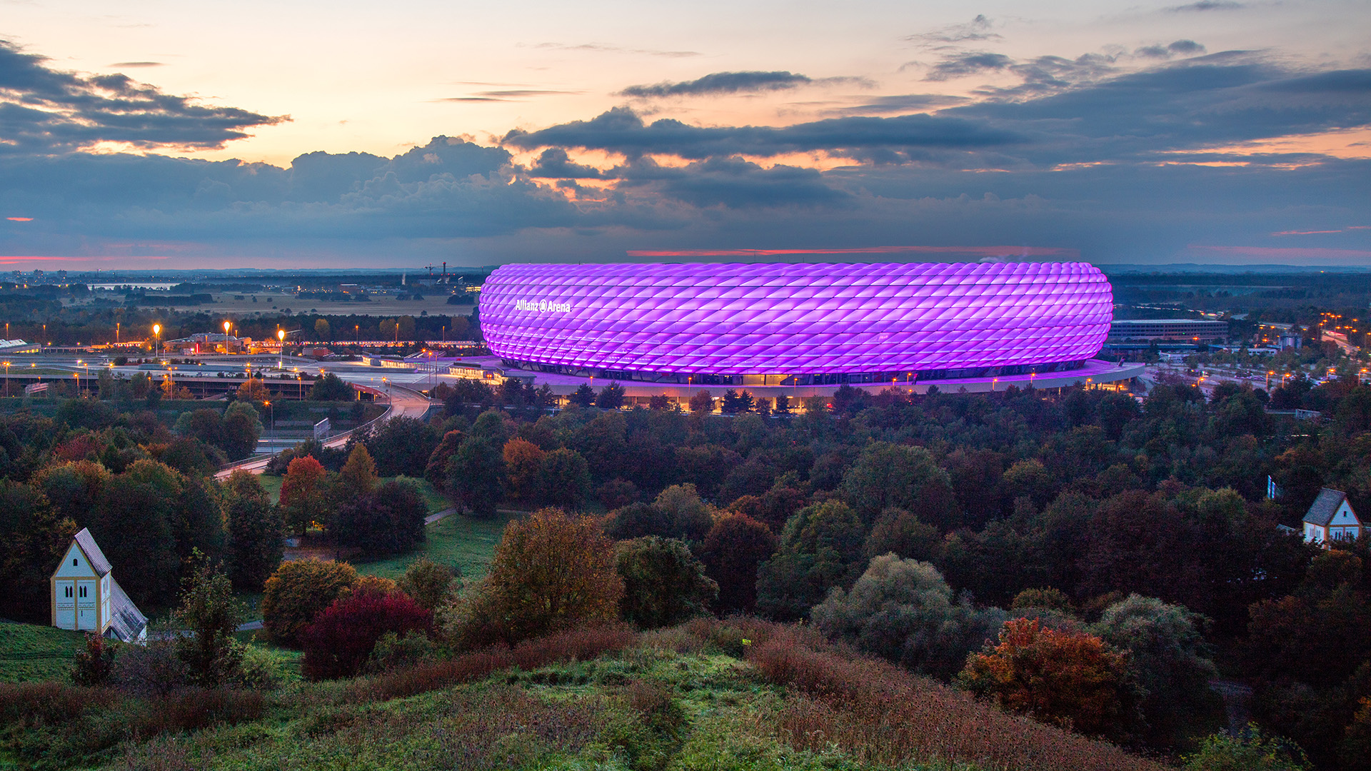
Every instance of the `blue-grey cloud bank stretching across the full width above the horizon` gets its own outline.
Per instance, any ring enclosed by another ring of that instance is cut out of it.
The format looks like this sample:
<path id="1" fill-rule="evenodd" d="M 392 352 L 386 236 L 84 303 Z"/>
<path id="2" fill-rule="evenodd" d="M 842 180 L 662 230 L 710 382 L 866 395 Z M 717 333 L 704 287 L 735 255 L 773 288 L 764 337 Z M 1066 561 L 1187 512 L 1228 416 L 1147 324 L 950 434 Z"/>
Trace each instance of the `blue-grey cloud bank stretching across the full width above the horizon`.
<path id="1" fill-rule="evenodd" d="M 976 36 L 993 36 L 988 23 L 943 33 Z M 1190 244 L 1291 246 L 1271 236 L 1279 230 L 1339 230 L 1301 237 L 1371 248 L 1368 230 L 1346 229 L 1371 224 L 1371 163 L 1216 150 L 1371 125 L 1371 70 L 1302 71 L 1242 52 L 1165 60 L 1200 51 L 1186 43 L 1141 71 L 1090 58 L 964 58 L 1020 85 L 961 104 L 882 96 L 868 115 L 783 128 L 692 126 L 620 107 L 510 132 L 498 147 L 436 137 L 393 158 L 311 152 L 288 167 L 85 152 L 100 141 L 218 147 L 280 118 L 123 75 L 60 73 L 4 45 L 0 218 L 33 221 L 0 220 L 0 252 L 145 239 L 244 261 L 325 248 L 340 263 L 381 254 L 488 263 L 611 259 L 625 248 L 1023 244 L 1171 262 Z M 633 88 L 670 96 L 809 80 L 725 74 L 772 80 Z M 934 111 L 894 114 L 909 108 Z M 577 151 L 620 161 L 596 169 Z M 846 162 L 818 171 L 773 161 L 794 154 Z"/>

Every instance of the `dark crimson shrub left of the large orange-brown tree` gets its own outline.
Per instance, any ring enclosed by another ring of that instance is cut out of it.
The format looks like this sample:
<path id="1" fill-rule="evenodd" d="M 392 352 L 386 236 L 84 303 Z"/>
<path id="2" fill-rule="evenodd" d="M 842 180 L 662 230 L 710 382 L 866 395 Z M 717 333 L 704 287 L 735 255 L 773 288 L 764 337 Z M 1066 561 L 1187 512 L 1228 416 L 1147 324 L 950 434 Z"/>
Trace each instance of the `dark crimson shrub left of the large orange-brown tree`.
<path id="1" fill-rule="evenodd" d="M 381 635 L 428 631 L 432 623 L 433 615 L 402 591 L 354 591 L 303 630 L 304 676 L 315 680 L 352 676 Z"/>

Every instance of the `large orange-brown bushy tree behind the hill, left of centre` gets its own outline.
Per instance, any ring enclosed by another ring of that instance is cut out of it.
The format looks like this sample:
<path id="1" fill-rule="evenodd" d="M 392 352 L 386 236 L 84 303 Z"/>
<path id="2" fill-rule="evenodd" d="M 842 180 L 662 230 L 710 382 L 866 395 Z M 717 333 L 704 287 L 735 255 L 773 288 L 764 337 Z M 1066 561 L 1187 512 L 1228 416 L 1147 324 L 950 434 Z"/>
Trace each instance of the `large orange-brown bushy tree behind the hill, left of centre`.
<path id="1" fill-rule="evenodd" d="M 462 648 L 509 645 L 618 617 L 624 579 L 594 517 L 539 509 L 505 527 L 489 573 L 461 613 Z"/>

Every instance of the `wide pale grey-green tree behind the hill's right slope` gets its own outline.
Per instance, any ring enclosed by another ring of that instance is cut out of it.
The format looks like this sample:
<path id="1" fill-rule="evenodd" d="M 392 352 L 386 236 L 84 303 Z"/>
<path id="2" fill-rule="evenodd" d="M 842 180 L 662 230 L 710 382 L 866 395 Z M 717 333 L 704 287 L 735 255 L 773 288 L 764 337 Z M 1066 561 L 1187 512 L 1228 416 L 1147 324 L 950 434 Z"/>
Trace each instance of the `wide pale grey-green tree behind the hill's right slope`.
<path id="1" fill-rule="evenodd" d="M 994 637 L 1005 615 L 978 612 L 958 601 L 928 562 L 882 554 L 871 560 L 851 591 L 835 589 L 810 617 L 828 637 L 946 679 Z"/>

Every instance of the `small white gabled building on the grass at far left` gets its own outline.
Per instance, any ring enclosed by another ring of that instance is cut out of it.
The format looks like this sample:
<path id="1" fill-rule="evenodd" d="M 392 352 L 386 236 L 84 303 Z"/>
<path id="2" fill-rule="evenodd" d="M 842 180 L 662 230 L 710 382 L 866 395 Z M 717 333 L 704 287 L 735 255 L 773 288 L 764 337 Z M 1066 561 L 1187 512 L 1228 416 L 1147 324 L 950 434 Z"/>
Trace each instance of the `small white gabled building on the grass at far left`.
<path id="1" fill-rule="evenodd" d="M 114 580 L 112 571 L 90 531 L 82 528 L 75 534 L 49 579 L 52 626 L 123 642 L 147 642 L 148 617 Z"/>

